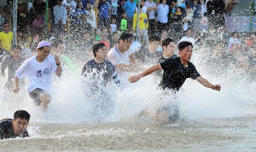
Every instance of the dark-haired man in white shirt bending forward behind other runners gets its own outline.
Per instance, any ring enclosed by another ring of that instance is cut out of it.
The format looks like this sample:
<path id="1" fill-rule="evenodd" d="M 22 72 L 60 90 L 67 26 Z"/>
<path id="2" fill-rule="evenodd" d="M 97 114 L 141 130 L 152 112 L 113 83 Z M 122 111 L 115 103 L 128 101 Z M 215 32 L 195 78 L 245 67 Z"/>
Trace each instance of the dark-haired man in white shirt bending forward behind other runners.
<path id="1" fill-rule="evenodd" d="M 108 60 L 112 62 L 120 71 L 137 72 L 146 68 L 136 66 L 132 50 L 129 49 L 133 40 L 131 33 L 124 32 L 119 38 L 115 47 L 108 52 Z"/>

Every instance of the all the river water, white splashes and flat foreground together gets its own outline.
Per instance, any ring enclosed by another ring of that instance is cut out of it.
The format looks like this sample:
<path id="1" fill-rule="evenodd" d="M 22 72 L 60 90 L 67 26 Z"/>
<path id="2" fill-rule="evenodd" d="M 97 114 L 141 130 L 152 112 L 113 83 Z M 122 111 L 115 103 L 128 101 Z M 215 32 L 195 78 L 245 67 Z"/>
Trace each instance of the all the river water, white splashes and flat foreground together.
<path id="1" fill-rule="evenodd" d="M 26 86 L 14 94 L 0 77 L 0 117 L 13 117 L 18 109 L 31 115 L 28 138 L 0 140 L 1 151 L 256 151 L 256 82 L 241 69 L 213 76 L 202 55 L 192 57 L 198 72 L 220 92 L 186 80 L 176 95 L 162 97 L 153 76 L 120 89 L 106 87 L 108 98 L 90 92 L 68 68 L 54 77 L 52 101 L 44 113 L 33 105 Z M 150 65 L 146 66 L 149 67 Z M 78 69 L 82 67 L 78 66 Z M 7 70 L 6 76 L 7 76 Z M 132 75 L 132 74 L 130 74 Z M 114 104 L 109 115 L 97 112 L 95 102 Z M 161 124 L 138 113 L 150 107 L 179 105 L 180 121 Z M 96 112 L 95 112 L 96 111 Z"/>

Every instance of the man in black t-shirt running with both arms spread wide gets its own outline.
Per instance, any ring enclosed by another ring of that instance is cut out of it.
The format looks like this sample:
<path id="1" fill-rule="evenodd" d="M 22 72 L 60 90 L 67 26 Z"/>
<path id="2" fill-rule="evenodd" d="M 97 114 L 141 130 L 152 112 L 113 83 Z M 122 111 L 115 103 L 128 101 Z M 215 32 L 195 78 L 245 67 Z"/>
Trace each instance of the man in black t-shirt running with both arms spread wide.
<path id="1" fill-rule="evenodd" d="M 193 53 L 192 43 L 182 41 L 179 43 L 178 49 L 179 57 L 169 58 L 164 62 L 151 66 L 141 74 L 131 76 L 128 81 L 134 83 L 156 70 L 164 70 L 162 81 L 159 84 L 159 87 L 162 88 L 162 90 L 173 90 L 175 93 L 181 88 L 187 78 L 192 78 L 207 88 L 220 91 L 221 86 L 219 84 L 213 85 L 200 76 L 194 64 L 190 62 Z M 167 111 L 166 109 L 164 110 Z M 169 114 L 167 112 L 162 113 L 162 115 L 156 115 L 150 115 L 150 117 L 161 122 L 168 121 Z"/>

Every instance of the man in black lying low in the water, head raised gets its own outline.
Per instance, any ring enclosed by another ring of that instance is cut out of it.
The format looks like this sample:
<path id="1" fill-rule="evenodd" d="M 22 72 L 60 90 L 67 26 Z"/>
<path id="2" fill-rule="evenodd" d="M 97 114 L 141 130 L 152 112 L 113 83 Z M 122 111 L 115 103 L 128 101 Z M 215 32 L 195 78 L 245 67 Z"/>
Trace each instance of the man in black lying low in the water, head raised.
<path id="1" fill-rule="evenodd" d="M 30 114 L 24 110 L 16 111 L 13 119 L 0 119 L 0 138 L 29 137 L 28 131 L 26 130 L 29 119 Z"/>

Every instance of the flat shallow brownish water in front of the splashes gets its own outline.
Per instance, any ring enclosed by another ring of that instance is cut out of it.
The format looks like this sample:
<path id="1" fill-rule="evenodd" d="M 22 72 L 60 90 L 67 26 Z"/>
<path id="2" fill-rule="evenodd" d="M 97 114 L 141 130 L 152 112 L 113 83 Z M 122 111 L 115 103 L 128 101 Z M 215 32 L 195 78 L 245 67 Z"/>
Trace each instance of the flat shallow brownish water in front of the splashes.
<path id="1" fill-rule="evenodd" d="M 0 147 L 2 151 L 252 152 L 255 126 L 255 117 L 196 119 L 179 125 L 160 125 L 146 118 L 100 124 L 32 123 L 31 137 L 1 140 Z"/>

